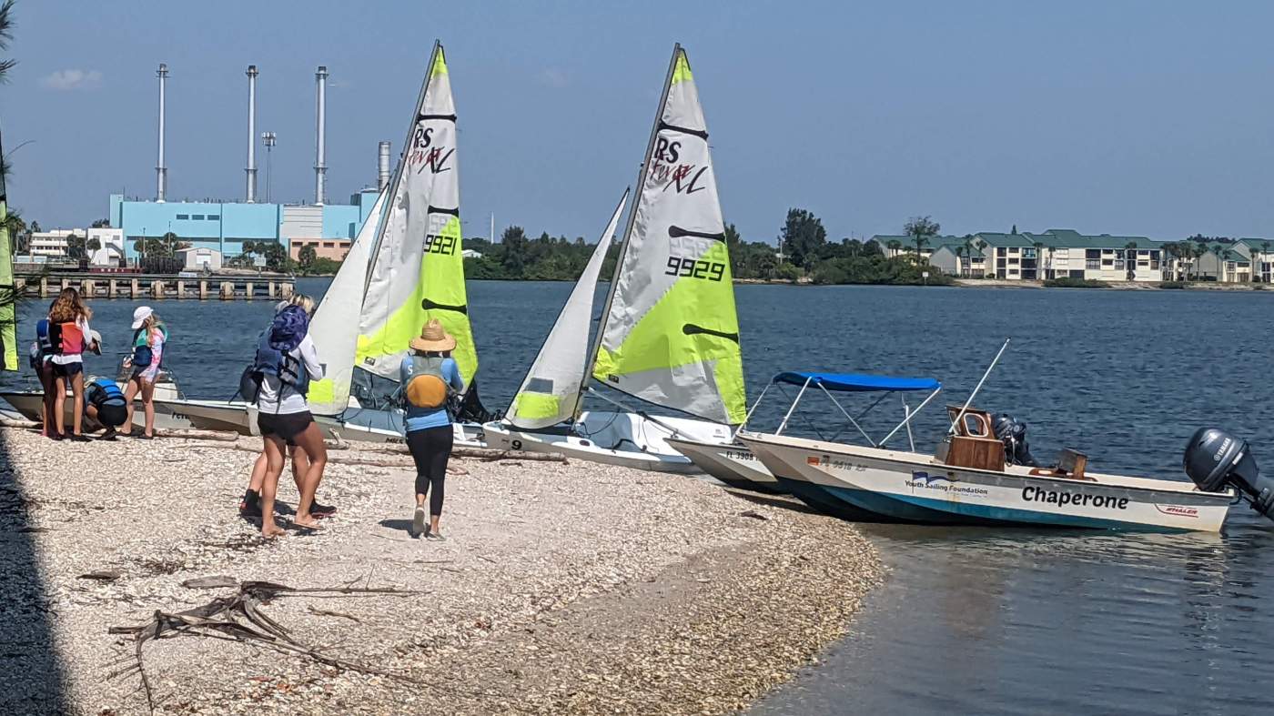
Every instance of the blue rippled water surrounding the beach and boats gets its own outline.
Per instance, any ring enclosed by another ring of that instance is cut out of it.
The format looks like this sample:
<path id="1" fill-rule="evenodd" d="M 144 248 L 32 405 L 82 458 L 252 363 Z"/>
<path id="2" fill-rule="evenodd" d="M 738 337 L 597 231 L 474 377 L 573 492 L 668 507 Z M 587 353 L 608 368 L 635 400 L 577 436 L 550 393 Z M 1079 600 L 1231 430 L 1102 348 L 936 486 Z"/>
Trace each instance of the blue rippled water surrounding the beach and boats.
<path id="1" fill-rule="evenodd" d="M 489 406 L 507 404 L 569 289 L 470 283 Z M 1024 419 L 1041 460 L 1075 447 L 1096 470 L 1184 479 L 1182 446 L 1214 424 L 1274 470 L 1274 292 L 748 285 L 736 296 L 753 396 L 775 372 L 819 368 L 933 376 L 959 403 L 1012 338 L 977 404 Z M 108 352 L 126 345 L 134 306 L 93 304 Z M 233 392 L 271 312 L 266 302 L 153 306 L 171 325 L 169 363 L 196 397 Z M 19 335 L 42 310 L 20 310 Z M 89 371 L 108 373 L 113 359 Z M 786 408 L 776 397 L 757 427 Z M 941 403 L 917 420 L 917 447 L 941 433 Z M 819 418 L 834 408 L 808 405 L 794 429 L 831 437 Z M 901 412 L 882 404 L 869 429 L 888 429 Z M 1246 508 L 1219 536 L 866 530 L 893 568 L 889 584 L 851 638 L 757 712 L 1270 711 L 1274 615 L 1256 599 L 1274 594 L 1274 522 Z"/>

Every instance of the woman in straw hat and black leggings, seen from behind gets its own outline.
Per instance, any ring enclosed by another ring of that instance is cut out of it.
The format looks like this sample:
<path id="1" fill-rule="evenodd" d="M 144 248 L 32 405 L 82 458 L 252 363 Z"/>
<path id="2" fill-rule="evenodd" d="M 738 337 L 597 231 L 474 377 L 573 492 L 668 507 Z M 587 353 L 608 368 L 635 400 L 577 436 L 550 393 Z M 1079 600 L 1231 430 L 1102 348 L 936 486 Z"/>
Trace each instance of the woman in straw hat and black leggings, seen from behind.
<path id="1" fill-rule="evenodd" d="M 420 330 L 419 338 L 412 339 L 412 350 L 400 368 L 400 382 L 406 394 L 406 445 L 415 460 L 412 531 L 415 536 L 432 540 L 445 539 L 438 531 L 438 519 L 442 516 L 443 480 L 454 440 L 447 397 L 465 389 L 460 367 L 451 358 L 455 348 L 456 339 L 433 319 Z M 429 497 L 428 529 L 424 525 L 426 497 Z"/>

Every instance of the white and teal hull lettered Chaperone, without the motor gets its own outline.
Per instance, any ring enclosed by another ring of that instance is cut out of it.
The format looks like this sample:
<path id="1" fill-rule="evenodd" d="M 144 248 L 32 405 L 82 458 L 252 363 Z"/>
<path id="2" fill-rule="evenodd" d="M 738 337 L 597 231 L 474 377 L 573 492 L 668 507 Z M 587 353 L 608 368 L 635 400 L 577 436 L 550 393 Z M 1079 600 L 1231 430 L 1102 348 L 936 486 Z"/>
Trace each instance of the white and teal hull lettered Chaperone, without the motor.
<path id="1" fill-rule="evenodd" d="M 741 433 L 784 484 L 884 517 L 939 524 L 1019 524 L 1120 530 L 1218 531 L 1232 497 L 1191 483 L 1089 474 L 1088 479 L 954 468 L 915 452 Z"/>

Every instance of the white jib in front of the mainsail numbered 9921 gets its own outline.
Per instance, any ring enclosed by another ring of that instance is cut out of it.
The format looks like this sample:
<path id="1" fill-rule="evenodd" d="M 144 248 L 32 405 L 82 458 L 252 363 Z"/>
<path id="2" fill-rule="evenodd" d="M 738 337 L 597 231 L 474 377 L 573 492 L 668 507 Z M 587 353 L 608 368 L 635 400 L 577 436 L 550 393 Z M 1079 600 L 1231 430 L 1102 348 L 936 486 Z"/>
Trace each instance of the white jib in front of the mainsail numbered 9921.
<path id="1" fill-rule="evenodd" d="M 363 287 L 367 283 L 367 261 L 376 242 L 387 192 L 381 192 L 372 213 L 358 229 L 336 276 L 331 279 L 315 317 L 310 321 L 310 338 L 318 359 L 324 362 L 324 378 L 310 383 L 307 403 L 318 415 L 339 415 L 349 404 L 350 378 L 354 375 L 354 349 L 358 345 L 358 317 L 363 311 Z"/>

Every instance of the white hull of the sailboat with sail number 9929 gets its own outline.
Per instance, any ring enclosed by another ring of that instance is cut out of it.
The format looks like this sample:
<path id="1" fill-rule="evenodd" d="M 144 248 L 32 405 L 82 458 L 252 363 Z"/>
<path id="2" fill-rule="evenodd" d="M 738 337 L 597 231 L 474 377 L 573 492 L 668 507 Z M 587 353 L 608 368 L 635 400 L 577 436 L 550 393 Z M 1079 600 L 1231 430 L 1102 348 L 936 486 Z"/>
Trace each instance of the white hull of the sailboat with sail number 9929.
<path id="1" fill-rule="evenodd" d="M 646 418 L 636 413 L 586 412 L 572 432 L 563 433 L 520 431 L 503 422 L 487 423 L 483 428 L 487 446 L 496 450 L 558 452 L 576 460 L 656 473 L 703 471 L 669 445 L 674 431 L 696 441 L 730 442 L 729 426 L 693 418 Z"/>

